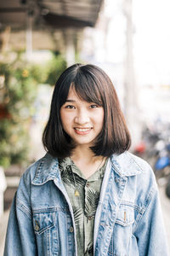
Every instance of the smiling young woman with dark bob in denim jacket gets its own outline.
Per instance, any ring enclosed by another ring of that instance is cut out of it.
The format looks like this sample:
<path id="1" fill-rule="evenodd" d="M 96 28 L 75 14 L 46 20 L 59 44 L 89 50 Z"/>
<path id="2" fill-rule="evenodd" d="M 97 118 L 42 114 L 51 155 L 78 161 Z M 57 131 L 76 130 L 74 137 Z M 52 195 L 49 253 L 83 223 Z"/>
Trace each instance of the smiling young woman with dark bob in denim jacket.
<path id="1" fill-rule="evenodd" d="M 111 79 L 76 64 L 54 89 L 47 154 L 14 196 L 5 256 L 167 256 L 156 179 L 127 152 L 130 135 Z"/>

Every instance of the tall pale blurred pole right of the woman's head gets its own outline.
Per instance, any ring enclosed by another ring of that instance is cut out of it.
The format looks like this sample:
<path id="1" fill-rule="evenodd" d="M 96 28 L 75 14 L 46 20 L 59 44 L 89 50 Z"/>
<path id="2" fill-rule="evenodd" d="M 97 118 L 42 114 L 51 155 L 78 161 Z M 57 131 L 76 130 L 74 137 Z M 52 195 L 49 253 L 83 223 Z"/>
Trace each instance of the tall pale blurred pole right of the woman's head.
<path id="1" fill-rule="evenodd" d="M 123 11 L 127 21 L 126 59 L 124 73 L 124 113 L 133 138 L 133 144 L 140 140 L 140 117 L 138 89 L 135 82 L 133 63 L 133 0 L 124 0 Z"/>

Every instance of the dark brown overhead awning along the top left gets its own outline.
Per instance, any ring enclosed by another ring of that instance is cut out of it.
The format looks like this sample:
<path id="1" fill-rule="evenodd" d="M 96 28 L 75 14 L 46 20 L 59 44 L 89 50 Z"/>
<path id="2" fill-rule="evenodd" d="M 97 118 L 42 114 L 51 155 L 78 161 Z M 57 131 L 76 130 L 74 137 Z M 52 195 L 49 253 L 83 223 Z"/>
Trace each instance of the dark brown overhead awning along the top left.
<path id="1" fill-rule="evenodd" d="M 44 26 L 94 26 L 103 0 L 8 0 L 0 2 L 0 26 L 26 27 L 32 17 L 34 29 Z"/>

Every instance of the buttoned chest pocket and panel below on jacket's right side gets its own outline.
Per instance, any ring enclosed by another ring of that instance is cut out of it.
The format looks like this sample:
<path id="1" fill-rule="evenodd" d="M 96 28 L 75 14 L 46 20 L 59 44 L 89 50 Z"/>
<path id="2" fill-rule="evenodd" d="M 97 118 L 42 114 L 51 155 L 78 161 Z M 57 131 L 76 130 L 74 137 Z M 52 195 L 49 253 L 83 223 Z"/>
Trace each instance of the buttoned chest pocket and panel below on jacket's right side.
<path id="1" fill-rule="evenodd" d="M 116 223 L 113 228 L 108 255 L 129 255 L 133 222 L 134 208 L 128 205 L 121 205 L 116 215 Z"/>

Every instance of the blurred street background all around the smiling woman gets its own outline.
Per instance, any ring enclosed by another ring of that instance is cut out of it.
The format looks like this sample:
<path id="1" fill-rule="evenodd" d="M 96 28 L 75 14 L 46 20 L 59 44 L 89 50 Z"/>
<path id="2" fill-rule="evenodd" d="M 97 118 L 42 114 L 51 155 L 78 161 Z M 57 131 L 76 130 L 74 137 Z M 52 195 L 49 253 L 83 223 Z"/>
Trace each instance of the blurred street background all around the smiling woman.
<path id="1" fill-rule="evenodd" d="M 0 255 L 20 176 L 45 154 L 55 81 L 75 62 L 111 77 L 130 151 L 156 174 L 170 244 L 169 9 L 168 0 L 0 2 Z"/>

